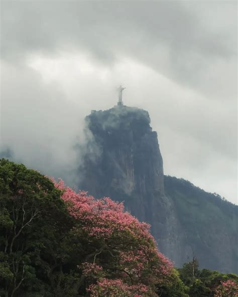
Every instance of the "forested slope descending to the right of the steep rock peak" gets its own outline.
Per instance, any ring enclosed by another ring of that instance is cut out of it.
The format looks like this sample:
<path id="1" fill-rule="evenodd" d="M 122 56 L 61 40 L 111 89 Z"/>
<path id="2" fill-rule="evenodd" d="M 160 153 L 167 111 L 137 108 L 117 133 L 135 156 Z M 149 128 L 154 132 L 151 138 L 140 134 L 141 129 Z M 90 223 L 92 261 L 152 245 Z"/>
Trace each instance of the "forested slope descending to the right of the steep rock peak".
<path id="1" fill-rule="evenodd" d="M 184 179 L 165 176 L 164 185 L 201 267 L 238 273 L 238 206 Z"/>

